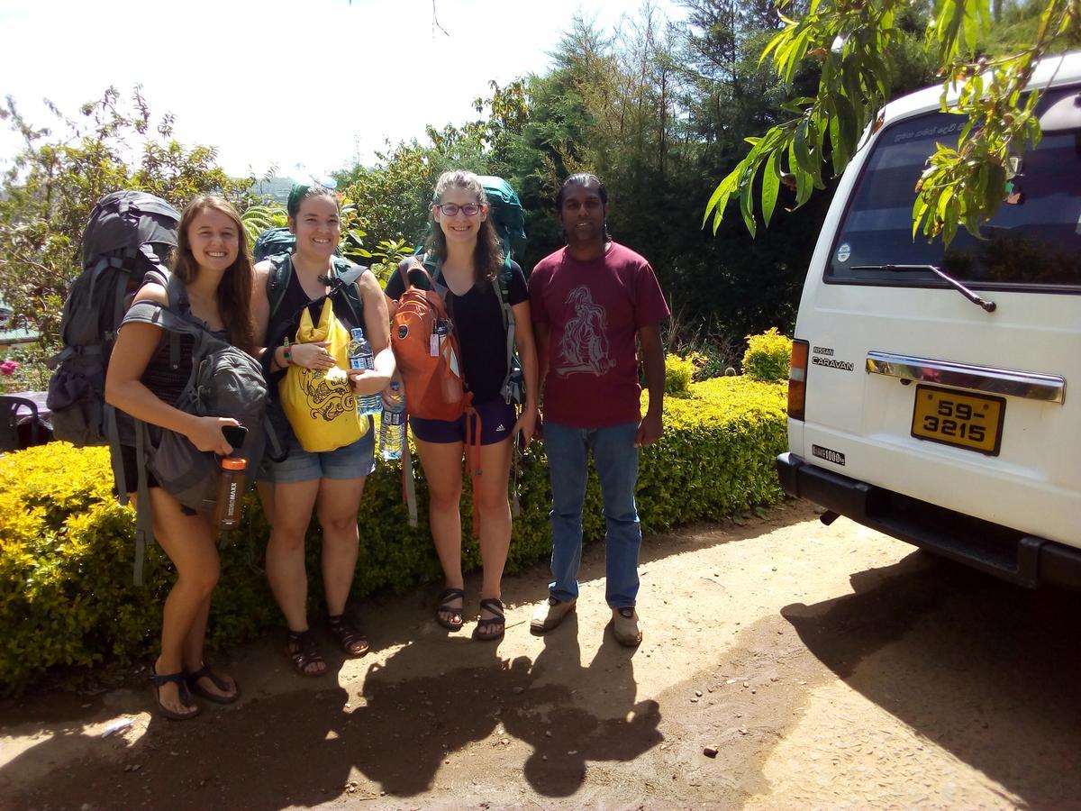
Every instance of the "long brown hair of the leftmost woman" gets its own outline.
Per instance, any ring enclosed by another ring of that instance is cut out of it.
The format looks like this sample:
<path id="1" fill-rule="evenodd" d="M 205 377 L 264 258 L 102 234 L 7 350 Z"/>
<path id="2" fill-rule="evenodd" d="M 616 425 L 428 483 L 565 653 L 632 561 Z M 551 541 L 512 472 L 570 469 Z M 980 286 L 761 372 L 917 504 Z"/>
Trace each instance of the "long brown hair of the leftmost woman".
<path id="1" fill-rule="evenodd" d="M 255 351 L 255 322 L 252 319 L 252 284 L 255 270 L 252 267 L 252 252 L 248 245 L 248 235 L 244 231 L 240 214 L 232 204 L 215 195 L 197 197 L 181 216 L 176 235 L 176 250 L 172 257 L 172 271 L 181 281 L 190 284 L 199 275 L 199 263 L 191 253 L 191 240 L 188 229 L 191 221 L 203 211 L 219 211 L 229 217 L 237 226 L 239 250 L 236 261 L 226 268 L 222 281 L 217 285 L 217 307 L 229 332 L 229 343 L 249 354 Z"/>

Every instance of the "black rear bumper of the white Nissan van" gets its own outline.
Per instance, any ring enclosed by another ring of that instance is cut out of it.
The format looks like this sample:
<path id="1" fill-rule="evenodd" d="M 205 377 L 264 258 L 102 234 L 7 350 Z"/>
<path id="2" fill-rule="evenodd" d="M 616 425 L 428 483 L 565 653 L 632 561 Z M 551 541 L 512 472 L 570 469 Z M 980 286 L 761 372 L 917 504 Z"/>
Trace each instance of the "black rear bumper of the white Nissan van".
<path id="1" fill-rule="evenodd" d="M 776 466 L 789 495 L 865 527 L 1026 588 L 1055 583 L 1081 589 L 1081 549 L 851 479 L 795 453 L 782 453 Z"/>

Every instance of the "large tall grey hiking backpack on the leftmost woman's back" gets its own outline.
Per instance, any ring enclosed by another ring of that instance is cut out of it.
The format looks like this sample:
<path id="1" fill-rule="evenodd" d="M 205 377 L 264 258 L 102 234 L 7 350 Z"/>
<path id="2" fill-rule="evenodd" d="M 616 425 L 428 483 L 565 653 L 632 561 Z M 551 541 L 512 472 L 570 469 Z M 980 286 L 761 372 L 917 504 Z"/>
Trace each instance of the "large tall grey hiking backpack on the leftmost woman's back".
<path id="1" fill-rule="evenodd" d="M 82 234 L 82 272 L 71 283 L 61 317 L 64 348 L 49 359 L 48 404 L 53 436 L 76 447 L 105 444 L 116 423 L 105 404 L 105 371 L 117 329 L 144 281 L 165 284 L 164 261 L 176 247 L 181 215 L 145 191 L 114 191 L 90 214 Z"/>

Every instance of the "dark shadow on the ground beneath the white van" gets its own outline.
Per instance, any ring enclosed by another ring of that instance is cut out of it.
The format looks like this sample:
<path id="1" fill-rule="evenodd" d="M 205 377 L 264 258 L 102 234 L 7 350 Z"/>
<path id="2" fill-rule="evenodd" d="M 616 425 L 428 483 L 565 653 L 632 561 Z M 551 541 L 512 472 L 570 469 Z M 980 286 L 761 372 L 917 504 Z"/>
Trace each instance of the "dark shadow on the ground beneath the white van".
<path id="1" fill-rule="evenodd" d="M 1033 808 L 1081 807 L 1081 596 L 913 553 L 782 614 L 850 687 Z"/>

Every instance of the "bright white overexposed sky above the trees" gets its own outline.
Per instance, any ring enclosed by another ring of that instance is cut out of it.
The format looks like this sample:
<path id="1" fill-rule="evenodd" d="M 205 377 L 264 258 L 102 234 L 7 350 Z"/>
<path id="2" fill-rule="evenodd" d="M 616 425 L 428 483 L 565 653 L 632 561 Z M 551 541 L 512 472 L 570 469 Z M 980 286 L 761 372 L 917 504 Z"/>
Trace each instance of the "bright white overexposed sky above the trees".
<path id="1" fill-rule="evenodd" d="M 654 0 L 682 17 L 675 0 Z M 386 138 L 476 117 L 473 98 L 530 71 L 582 10 L 610 30 L 638 0 L 0 0 L 0 94 L 31 123 L 108 85 L 142 84 L 186 145 L 232 174 L 324 176 Z M 122 43 L 128 43 L 122 44 Z M 0 167 L 17 139 L 0 131 Z"/>

